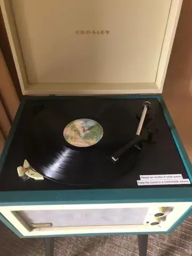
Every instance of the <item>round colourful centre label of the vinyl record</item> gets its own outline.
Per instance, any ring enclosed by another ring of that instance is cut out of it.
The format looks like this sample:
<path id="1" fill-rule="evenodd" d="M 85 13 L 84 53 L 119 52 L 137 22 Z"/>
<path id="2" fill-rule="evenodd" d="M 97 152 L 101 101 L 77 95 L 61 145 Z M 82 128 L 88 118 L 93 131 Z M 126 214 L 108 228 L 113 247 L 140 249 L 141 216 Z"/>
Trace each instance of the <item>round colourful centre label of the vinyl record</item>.
<path id="1" fill-rule="evenodd" d="M 63 131 L 66 141 L 76 147 L 90 147 L 98 143 L 103 136 L 102 126 L 92 119 L 76 119 Z"/>

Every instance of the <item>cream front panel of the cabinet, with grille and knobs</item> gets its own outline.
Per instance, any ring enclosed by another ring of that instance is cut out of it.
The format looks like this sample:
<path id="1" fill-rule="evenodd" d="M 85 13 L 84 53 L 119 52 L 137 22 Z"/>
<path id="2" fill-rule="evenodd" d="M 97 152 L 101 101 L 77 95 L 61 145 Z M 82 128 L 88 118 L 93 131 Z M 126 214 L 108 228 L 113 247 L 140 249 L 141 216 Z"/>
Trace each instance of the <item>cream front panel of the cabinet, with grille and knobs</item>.
<path id="1" fill-rule="evenodd" d="M 150 233 L 169 230 L 186 203 L 3 206 L 0 212 L 23 236 Z"/>

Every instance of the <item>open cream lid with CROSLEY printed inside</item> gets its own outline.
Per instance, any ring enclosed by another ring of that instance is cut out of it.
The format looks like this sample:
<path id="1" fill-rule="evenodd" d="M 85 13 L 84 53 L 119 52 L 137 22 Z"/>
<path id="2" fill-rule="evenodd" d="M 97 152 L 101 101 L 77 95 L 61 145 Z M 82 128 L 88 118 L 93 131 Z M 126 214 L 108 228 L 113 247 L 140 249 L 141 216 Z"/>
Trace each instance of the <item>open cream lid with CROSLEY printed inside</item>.
<path id="1" fill-rule="evenodd" d="M 182 0 L 0 0 L 28 95 L 161 93 Z"/>

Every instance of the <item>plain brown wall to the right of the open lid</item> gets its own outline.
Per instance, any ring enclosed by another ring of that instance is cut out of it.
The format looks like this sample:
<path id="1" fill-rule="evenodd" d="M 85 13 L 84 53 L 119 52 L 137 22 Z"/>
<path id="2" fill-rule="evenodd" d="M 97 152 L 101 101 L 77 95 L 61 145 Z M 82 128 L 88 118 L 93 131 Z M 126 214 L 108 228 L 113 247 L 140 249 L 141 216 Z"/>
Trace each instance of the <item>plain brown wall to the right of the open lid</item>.
<path id="1" fill-rule="evenodd" d="M 192 161 L 192 0 L 183 0 L 163 95 Z"/>

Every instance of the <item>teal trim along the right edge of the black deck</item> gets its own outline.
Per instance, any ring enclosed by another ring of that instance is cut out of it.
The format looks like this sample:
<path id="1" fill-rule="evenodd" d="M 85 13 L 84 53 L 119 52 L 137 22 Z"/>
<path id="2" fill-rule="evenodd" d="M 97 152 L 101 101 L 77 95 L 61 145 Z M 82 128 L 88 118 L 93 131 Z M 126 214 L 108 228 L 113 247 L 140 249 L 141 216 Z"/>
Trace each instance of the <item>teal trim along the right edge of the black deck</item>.
<path id="1" fill-rule="evenodd" d="M 171 115 L 170 115 L 170 113 L 169 113 L 169 111 L 166 107 L 165 101 L 163 100 L 161 95 L 158 96 L 158 100 L 161 103 L 161 106 L 163 108 L 163 112 L 164 112 L 167 124 L 170 126 L 171 133 L 172 133 L 173 139 L 175 141 L 175 145 L 178 148 L 178 151 L 179 151 L 179 154 L 181 156 L 182 162 L 183 162 L 183 164 L 186 168 L 189 179 L 192 182 L 192 164 L 191 164 L 191 161 L 190 161 L 190 159 L 187 155 L 187 152 L 186 152 L 185 148 L 183 147 L 183 144 L 182 144 L 182 141 L 179 137 L 177 129 L 175 128 L 173 119 L 171 118 Z"/>

